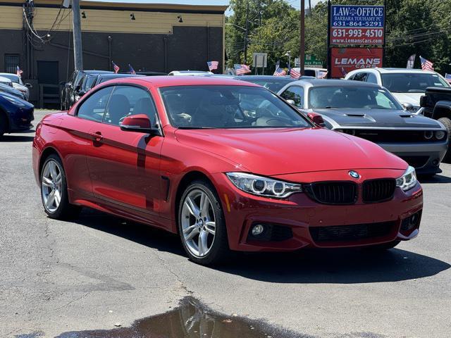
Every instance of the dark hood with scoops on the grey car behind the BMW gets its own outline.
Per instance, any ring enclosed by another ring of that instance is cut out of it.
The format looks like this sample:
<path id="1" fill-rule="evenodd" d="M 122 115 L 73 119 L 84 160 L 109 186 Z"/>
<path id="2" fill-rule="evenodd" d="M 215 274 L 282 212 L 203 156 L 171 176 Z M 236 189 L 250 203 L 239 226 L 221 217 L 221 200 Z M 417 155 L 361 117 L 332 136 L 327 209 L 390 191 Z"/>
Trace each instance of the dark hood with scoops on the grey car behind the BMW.
<path id="1" fill-rule="evenodd" d="M 391 109 L 350 109 L 330 108 L 314 109 L 315 113 L 333 120 L 339 127 L 390 127 L 390 128 L 437 128 L 440 124 L 423 115 L 416 115 L 408 111 Z"/>

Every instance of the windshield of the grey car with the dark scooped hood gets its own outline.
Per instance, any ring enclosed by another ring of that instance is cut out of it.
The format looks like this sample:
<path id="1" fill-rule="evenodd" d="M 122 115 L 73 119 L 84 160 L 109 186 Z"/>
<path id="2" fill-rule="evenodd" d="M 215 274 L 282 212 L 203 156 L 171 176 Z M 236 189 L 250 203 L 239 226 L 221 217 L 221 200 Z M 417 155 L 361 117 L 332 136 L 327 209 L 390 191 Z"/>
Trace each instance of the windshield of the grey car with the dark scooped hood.
<path id="1" fill-rule="evenodd" d="M 363 86 L 311 88 L 309 108 L 402 109 L 400 104 L 385 89 Z"/>

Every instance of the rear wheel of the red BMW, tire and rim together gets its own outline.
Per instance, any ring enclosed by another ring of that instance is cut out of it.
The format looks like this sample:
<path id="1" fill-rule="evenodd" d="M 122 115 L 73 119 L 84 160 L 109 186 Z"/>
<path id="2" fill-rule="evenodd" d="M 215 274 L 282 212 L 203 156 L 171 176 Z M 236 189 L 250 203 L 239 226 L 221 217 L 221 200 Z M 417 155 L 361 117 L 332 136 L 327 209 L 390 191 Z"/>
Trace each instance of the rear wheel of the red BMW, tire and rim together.
<path id="1" fill-rule="evenodd" d="M 78 215 L 81 208 L 69 203 L 66 173 L 61 158 L 56 154 L 46 158 L 40 182 L 42 205 L 49 218 L 63 220 Z"/>

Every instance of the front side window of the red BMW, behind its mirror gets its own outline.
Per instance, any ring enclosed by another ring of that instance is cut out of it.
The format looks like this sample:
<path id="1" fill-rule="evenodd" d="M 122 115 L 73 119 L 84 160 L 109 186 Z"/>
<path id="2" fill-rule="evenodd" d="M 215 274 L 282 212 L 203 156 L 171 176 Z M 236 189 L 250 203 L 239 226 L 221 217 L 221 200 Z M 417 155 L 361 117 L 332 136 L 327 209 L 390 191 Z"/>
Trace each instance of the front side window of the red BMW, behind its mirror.
<path id="1" fill-rule="evenodd" d="M 128 115 L 145 114 L 152 125 L 156 121 L 156 108 L 149 92 L 132 86 L 116 86 L 106 109 L 104 122 L 120 125 Z"/>

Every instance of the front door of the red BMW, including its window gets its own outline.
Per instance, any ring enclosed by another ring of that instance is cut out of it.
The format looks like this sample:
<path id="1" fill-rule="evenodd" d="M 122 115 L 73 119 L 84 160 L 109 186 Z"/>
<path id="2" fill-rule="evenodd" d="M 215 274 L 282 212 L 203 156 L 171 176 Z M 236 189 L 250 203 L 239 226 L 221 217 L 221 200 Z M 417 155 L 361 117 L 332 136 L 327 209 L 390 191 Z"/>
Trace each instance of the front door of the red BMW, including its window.
<path id="1" fill-rule="evenodd" d="M 158 214 L 160 152 L 163 137 L 121 130 L 128 115 L 146 114 L 156 124 L 156 108 L 147 89 L 133 85 L 114 87 L 102 123 L 87 154 L 94 196 L 118 208 L 145 215 Z"/>

